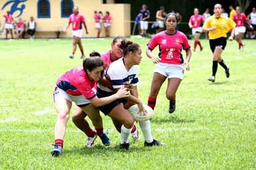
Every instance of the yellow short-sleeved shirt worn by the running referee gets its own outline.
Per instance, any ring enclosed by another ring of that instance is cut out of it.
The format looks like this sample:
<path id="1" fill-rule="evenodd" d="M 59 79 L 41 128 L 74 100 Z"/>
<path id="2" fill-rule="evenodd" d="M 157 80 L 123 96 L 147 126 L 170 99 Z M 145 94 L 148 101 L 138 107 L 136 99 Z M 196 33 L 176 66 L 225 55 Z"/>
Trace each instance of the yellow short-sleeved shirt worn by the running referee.
<path id="1" fill-rule="evenodd" d="M 216 27 L 214 31 L 209 31 L 209 39 L 227 37 L 227 33 L 236 27 L 236 23 L 228 17 L 220 16 L 216 18 L 215 14 L 211 15 L 204 22 L 203 28 Z"/>

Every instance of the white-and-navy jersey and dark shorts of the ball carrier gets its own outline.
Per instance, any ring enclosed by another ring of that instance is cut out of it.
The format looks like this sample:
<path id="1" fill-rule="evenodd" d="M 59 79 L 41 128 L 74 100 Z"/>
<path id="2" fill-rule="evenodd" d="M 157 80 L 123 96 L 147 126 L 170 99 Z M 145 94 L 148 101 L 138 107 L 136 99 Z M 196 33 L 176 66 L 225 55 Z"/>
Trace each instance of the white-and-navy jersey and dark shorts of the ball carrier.
<path id="1" fill-rule="evenodd" d="M 117 61 L 112 62 L 108 69 L 106 69 L 106 77 L 111 81 L 113 88 L 121 88 L 124 84 L 131 84 L 131 86 L 137 86 L 139 66 L 134 65 L 129 71 L 126 70 L 124 65 L 124 58 L 120 58 Z M 104 98 L 115 94 L 113 89 L 105 87 L 98 83 L 97 86 L 97 96 L 98 98 Z M 99 110 L 105 115 L 108 115 L 117 105 L 120 103 L 126 103 L 124 99 L 118 99 L 108 105 L 99 107 Z"/>

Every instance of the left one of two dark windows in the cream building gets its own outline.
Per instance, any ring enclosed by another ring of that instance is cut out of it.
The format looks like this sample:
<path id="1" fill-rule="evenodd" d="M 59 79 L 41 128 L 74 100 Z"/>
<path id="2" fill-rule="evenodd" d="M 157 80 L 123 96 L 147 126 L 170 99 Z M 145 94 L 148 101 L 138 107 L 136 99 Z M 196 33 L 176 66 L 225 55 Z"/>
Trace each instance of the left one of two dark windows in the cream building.
<path id="1" fill-rule="evenodd" d="M 37 2 L 37 18 L 50 18 L 51 8 L 49 0 L 39 0 Z"/>

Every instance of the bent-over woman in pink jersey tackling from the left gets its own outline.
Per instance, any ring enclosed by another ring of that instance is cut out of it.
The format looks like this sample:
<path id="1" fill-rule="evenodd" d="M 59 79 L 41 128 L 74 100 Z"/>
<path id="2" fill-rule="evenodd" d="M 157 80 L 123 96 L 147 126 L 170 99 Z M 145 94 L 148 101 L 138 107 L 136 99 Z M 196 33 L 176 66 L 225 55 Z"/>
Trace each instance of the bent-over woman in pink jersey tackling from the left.
<path id="1" fill-rule="evenodd" d="M 96 96 L 94 85 L 103 76 L 103 64 L 100 54 L 97 52 L 91 53 L 90 58 L 83 61 L 83 65 L 66 72 L 56 82 L 53 99 L 58 117 L 55 124 L 55 144 L 51 152 L 53 156 L 62 153 L 63 139 L 72 102 L 90 117 L 95 126 L 96 134 L 101 138 L 102 143 L 110 144 L 107 134 L 103 132 L 102 118 L 96 107 L 125 98 L 129 96 L 129 93 L 126 88 L 121 88 L 116 94 L 106 98 L 99 99 Z M 94 131 L 91 133 L 94 133 Z"/>

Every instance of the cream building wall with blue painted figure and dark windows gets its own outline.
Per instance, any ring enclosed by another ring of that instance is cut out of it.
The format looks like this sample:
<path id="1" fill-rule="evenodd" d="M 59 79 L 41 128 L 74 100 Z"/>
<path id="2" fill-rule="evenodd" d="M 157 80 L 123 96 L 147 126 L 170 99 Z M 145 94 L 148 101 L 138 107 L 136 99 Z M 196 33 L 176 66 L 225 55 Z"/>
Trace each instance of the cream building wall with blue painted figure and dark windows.
<path id="1" fill-rule="evenodd" d="M 1 0 L 0 1 L 0 31 L 4 28 L 5 18 L 3 15 L 6 11 L 10 10 L 13 7 L 13 4 L 9 4 L 3 10 L 3 6 L 10 2 L 11 0 Z M 16 0 L 20 1 L 20 0 Z M 25 9 L 20 17 L 23 20 L 26 20 L 26 23 L 29 21 L 29 17 L 33 16 L 37 23 L 37 32 L 35 37 L 56 37 L 55 31 L 63 30 L 68 24 L 68 18 L 61 18 L 61 0 L 49 0 L 50 2 L 50 18 L 37 18 L 37 2 L 38 0 L 27 0 L 26 2 L 20 3 L 17 7 L 21 8 L 22 5 L 25 5 Z M 88 27 L 89 34 L 85 33 L 83 29 L 83 37 L 96 37 L 97 30 L 94 25 L 94 11 L 102 11 L 104 14 L 105 11 L 109 11 L 113 17 L 112 27 L 111 27 L 111 36 L 130 36 L 131 33 L 131 6 L 130 4 L 102 4 L 101 0 L 74 0 L 74 6 L 79 7 L 79 13 L 81 13 L 86 18 L 86 24 Z M 18 20 L 16 16 L 19 15 L 19 11 L 13 13 L 14 20 Z M 1 34 L 1 33 L 0 33 Z M 5 36 L 5 31 L 0 35 L 0 38 Z M 101 36 L 105 36 L 103 25 Z M 71 27 L 66 33 L 61 32 L 60 37 L 72 37 Z"/>

